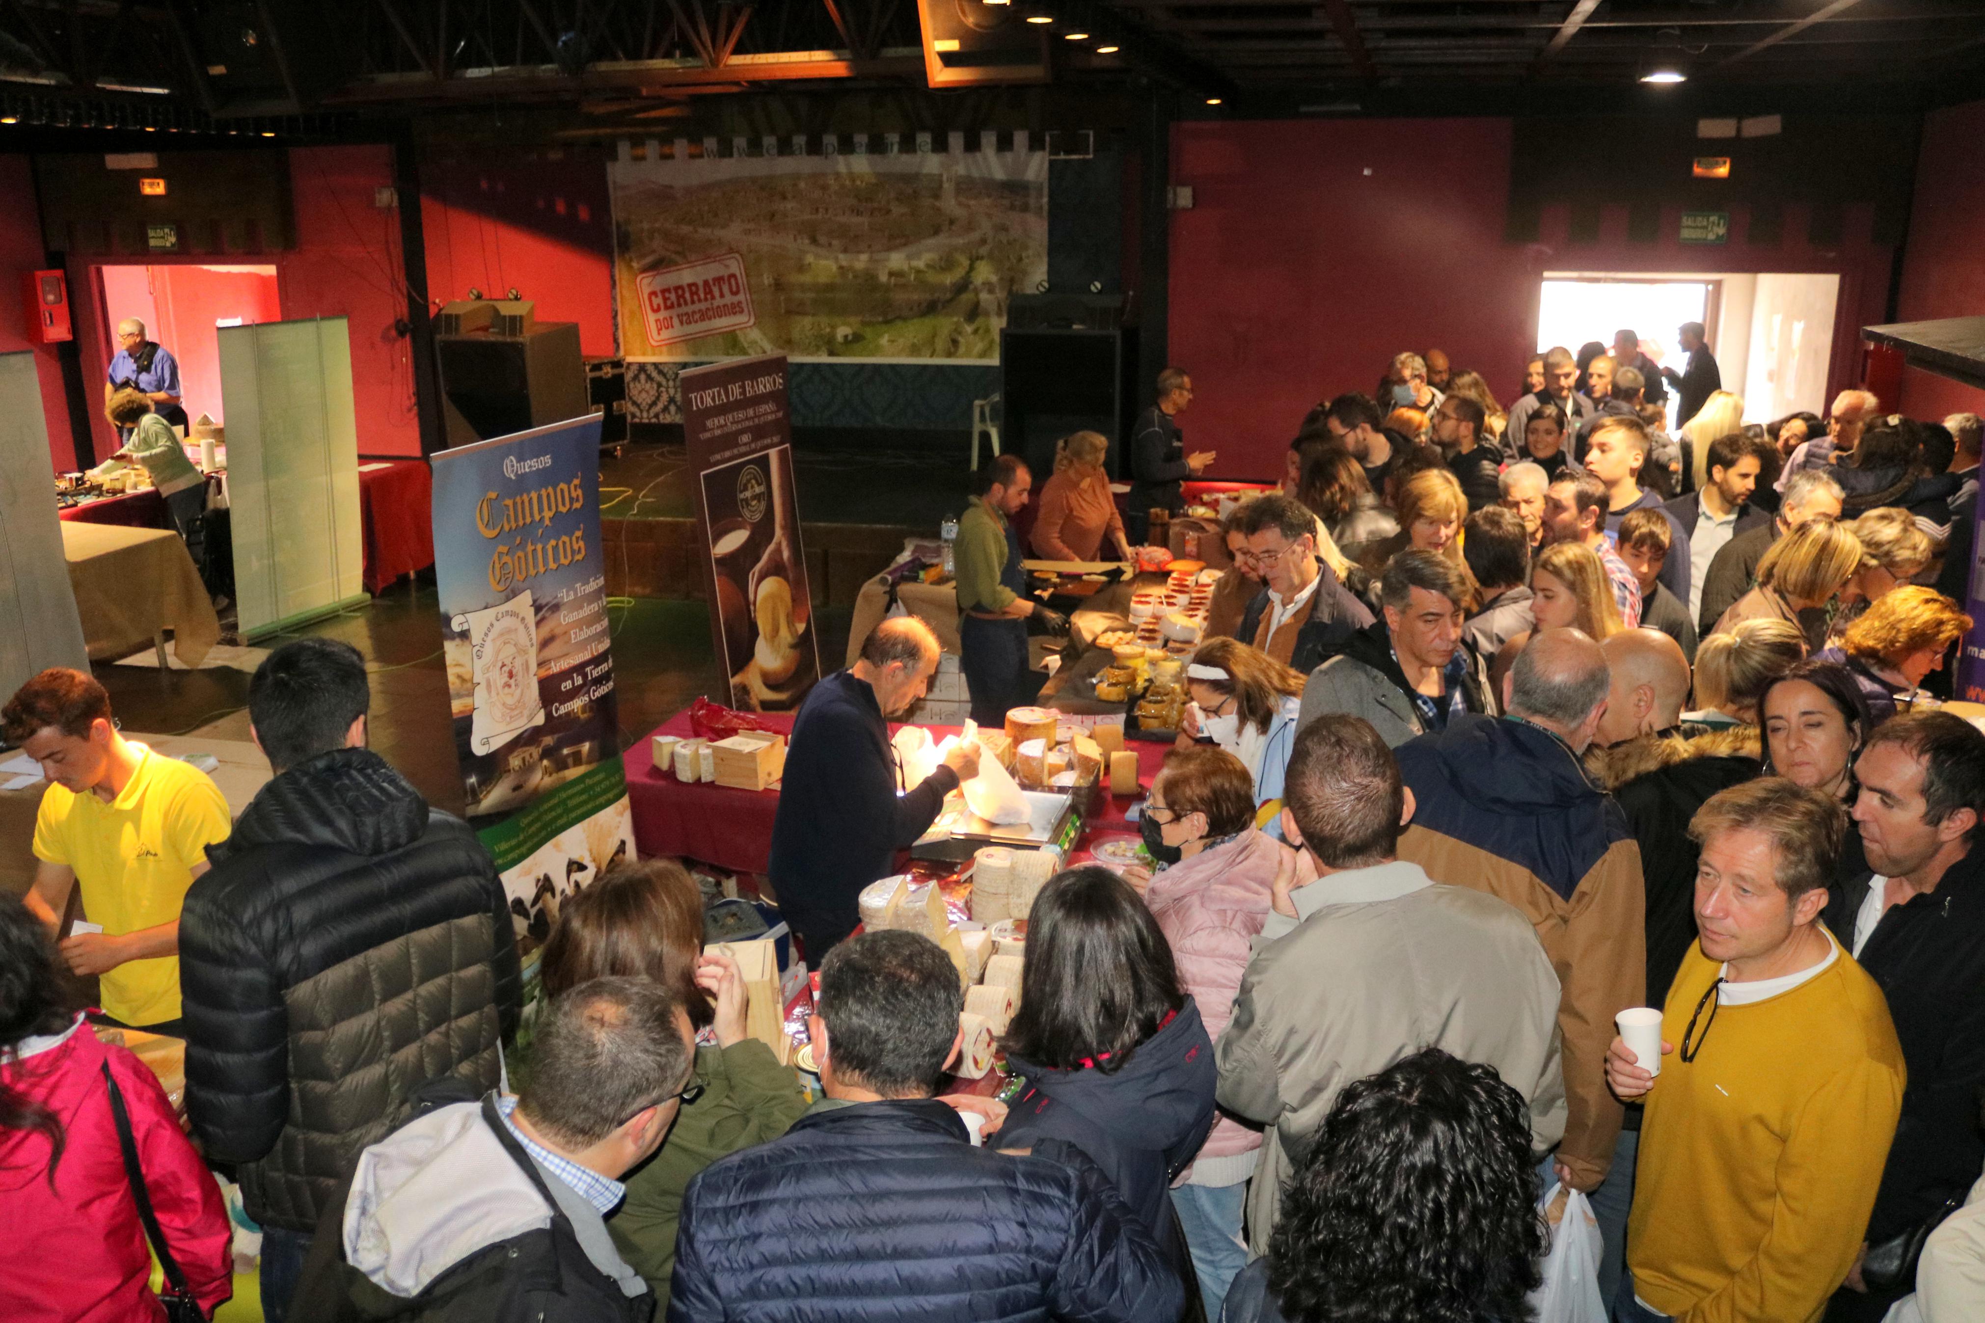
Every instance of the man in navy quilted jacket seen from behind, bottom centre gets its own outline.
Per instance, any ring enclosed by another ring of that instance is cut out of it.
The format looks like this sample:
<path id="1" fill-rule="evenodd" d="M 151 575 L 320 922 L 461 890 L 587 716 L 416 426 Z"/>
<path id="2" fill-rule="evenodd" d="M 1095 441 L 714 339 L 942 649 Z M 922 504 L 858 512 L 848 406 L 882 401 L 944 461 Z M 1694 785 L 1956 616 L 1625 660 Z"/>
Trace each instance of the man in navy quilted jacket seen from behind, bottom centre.
<path id="1" fill-rule="evenodd" d="M 812 1018 L 826 1099 L 689 1184 L 671 1323 L 1179 1317 L 1179 1275 L 1080 1150 L 975 1148 L 931 1097 L 963 1006 L 951 958 L 913 932 L 828 952 Z"/>

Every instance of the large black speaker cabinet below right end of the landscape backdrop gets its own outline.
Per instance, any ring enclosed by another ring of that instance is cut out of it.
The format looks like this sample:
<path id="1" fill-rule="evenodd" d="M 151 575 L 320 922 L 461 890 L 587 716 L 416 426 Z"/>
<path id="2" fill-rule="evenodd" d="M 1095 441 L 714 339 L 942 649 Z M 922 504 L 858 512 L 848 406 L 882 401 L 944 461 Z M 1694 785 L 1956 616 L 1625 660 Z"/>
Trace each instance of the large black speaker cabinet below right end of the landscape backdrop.
<path id="1" fill-rule="evenodd" d="M 1008 319 L 998 363 L 1000 444 L 1036 482 L 1054 472 L 1054 442 L 1082 430 L 1110 438 L 1110 472 L 1122 472 L 1139 399 L 1135 329 L 1014 329 Z"/>

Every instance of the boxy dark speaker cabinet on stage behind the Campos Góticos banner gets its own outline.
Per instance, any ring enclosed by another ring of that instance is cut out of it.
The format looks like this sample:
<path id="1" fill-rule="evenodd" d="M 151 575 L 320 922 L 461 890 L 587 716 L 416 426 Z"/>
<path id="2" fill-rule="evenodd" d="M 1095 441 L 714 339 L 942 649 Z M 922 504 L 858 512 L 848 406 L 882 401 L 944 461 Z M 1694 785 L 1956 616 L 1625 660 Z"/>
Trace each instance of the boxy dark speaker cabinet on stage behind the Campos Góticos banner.
<path id="1" fill-rule="evenodd" d="M 528 335 L 437 335 L 449 446 L 526 432 L 590 413 L 576 321 Z"/>

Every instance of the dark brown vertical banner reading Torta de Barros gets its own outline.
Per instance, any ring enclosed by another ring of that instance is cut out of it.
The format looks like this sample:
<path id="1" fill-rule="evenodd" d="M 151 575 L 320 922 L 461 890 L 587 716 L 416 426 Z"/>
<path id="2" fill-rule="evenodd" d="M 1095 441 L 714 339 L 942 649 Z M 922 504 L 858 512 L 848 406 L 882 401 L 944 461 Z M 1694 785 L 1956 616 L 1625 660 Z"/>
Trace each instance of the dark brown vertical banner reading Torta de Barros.
<path id="1" fill-rule="evenodd" d="M 820 678 L 820 653 L 792 490 L 784 355 L 683 373 L 683 430 L 730 706 L 790 712 Z"/>

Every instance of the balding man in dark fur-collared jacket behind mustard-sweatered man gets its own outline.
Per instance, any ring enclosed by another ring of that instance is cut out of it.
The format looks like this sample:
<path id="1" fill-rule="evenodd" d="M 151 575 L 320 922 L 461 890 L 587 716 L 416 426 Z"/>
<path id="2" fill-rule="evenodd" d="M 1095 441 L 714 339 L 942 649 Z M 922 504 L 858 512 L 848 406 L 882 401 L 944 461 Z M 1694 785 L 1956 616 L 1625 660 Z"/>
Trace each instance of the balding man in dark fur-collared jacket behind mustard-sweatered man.
<path id="1" fill-rule="evenodd" d="M 1600 645 L 1612 686 L 1586 766 L 1612 791 L 1640 843 L 1648 936 L 1648 1006 L 1667 998 L 1675 968 L 1695 940 L 1695 809 L 1759 774 L 1757 728 L 1681 726 L 1689 662 L 1667 635 L 1628 629 Z M 1630 1107 L 1604 1184 L 1592 1192 L 1600 1222 L 1600 1291 L 1620 1283 L 1620 1246 L 1634 1204 L 1640 1107 Z"/>

